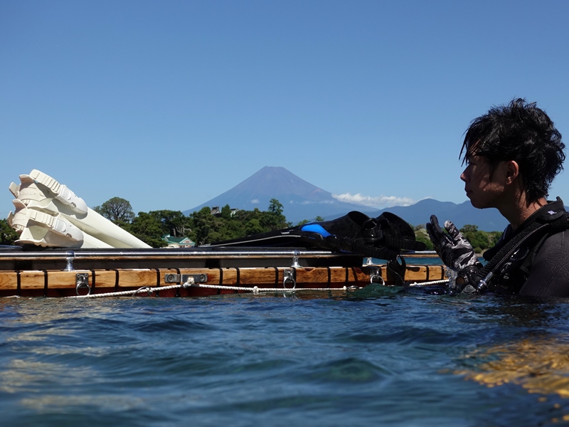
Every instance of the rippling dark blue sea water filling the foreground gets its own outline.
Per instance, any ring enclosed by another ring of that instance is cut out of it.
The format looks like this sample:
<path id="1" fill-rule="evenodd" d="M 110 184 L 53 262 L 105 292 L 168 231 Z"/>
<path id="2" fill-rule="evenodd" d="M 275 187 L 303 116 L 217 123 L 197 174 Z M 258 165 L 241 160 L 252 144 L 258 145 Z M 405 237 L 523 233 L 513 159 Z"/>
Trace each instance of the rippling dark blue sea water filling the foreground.
<path id="1" fill-rule="evenodd" d="M 566 300 L 4 299 L 0 321 L 6 426 L 569 421 Z"/>

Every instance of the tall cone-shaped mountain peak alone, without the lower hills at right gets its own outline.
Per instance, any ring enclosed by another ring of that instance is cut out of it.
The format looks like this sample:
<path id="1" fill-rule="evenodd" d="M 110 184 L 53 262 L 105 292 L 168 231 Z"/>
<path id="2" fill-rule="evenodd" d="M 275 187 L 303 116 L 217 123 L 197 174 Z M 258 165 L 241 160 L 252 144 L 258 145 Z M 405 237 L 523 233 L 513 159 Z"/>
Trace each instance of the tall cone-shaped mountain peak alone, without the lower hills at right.
<path id="1" fill-rule="evenodd" d="M 374 211 L 370 207 L 338 201 L 328 191 L 309 184 L 284 167 L 265 166 L 233 189 L 184 211 L 184 214 L 199 211 L 205 206 L 222 208 L 225 205 L 246 211 L 255 208 L 266 211 L 270 199 L 280 201 L 283 206 L 282 213 L 287 217 L 287 221 L 292 223 L 299 223 L 304 219 L 313 221 L 317 216 L 336 218 L 349 211 Z"/>

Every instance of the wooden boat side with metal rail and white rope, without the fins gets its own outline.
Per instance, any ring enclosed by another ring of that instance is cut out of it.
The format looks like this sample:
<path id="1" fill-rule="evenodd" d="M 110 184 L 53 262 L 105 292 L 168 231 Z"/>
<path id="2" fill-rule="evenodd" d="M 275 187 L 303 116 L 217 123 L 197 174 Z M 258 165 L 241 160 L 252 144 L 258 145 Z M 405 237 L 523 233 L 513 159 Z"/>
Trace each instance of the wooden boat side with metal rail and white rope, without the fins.
<path id="1" fill-rule="evenodd" d="M 403 279 L 444 281 L 446 268 L 406 265 Z M 0 297 L 197 297 L 371 283 L 400 279 L 389 265 L 361 255 L 304 248 L 0 249 Z"/>

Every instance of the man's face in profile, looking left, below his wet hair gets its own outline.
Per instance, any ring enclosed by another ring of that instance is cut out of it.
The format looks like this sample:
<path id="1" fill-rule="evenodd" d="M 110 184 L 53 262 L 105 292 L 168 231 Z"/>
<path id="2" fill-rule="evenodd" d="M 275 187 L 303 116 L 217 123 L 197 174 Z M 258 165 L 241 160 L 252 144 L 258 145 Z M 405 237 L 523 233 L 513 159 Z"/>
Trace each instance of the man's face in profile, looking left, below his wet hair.
<path id="1" fill-rule="evenodd" d="M 499 162 L 494 172 L 484 157 L 467 157 L 467 164 L 460 179 L 464 181 L 464 191 L 472 206 L 478 209 L 498 207 L 504 193 L 506 162 Z"/>

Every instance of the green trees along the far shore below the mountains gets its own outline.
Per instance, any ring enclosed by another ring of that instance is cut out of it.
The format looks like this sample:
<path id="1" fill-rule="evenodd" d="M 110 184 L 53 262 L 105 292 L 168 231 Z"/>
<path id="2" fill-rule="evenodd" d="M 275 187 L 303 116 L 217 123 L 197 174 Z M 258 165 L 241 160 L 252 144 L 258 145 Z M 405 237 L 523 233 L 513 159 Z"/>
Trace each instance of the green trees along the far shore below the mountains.
<path id="1" fill-rule="evenodd" d="M 162 236 L 166 234 L 187 237 L 196 245 L 203 245 L 292 226 L 282 214 L 283 206 L 277 199 L 270 200 L 267 211 L 256 208 L 252 211 L 239 211 L 225 205 L 216 214 L 212 214 L 211 209 L 205 207 L 186 216 L 181 211 L 169 210 L 139 212 L 135 215 L 129 201 L 113 197 L 101 206 L 95 206 L 93 210 L 153 248 L 166 246 L 166 242 L 162 240 Z M 317 216 L 314 221 L 324 221 L 324 218 Z M 304 220 L 297 225 L 307 222 L 309 221 Z M 477 253 L 494 246 L 501 236 L 501 232 L 480 231 L 477 226 L 472 225 L 466 225 L 460 231 L 472 243 Z M 433 246 L 424 225 L 415 227 L 415 236 L 418 241 L 425 243 L 427 250 L 432 250 Z M 18 234 L 9 226 L 8 221 L 0 220 L 0 244 L 14 244 L 17 238 Z"/>

